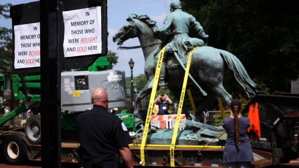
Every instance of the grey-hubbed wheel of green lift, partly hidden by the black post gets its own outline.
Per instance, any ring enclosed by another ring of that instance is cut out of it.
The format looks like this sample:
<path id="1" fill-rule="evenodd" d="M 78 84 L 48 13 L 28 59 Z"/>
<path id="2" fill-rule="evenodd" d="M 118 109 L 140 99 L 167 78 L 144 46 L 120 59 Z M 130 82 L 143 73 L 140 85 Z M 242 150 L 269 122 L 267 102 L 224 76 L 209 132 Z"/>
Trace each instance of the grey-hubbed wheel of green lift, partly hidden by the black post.
<path id="1" fill-rule="evenodd" d="M 40 143 L 41 130 L 40 130 L 40 115 L 30 117 L 25 126 L 26 138 L 33 144 Z"/>

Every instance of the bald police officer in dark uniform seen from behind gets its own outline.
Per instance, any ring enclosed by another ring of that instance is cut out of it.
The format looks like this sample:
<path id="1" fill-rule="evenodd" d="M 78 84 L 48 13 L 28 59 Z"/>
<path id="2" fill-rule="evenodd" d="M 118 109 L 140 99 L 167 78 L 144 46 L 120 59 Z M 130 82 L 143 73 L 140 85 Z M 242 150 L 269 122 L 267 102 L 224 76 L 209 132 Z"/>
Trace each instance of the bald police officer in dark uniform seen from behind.
<path id="1" fill-rule="evenodd" d="M 121 119 L 107 111 L 107 92 L 102 88 L 94 89 L 91 102 L 93 109 L 79 114 L 76 120 L 79 156 L 83 161 L 80 167 L 113 168 L 120 154 L 126 166 L 132 168 L 128 147 L 132 139 Z"/>

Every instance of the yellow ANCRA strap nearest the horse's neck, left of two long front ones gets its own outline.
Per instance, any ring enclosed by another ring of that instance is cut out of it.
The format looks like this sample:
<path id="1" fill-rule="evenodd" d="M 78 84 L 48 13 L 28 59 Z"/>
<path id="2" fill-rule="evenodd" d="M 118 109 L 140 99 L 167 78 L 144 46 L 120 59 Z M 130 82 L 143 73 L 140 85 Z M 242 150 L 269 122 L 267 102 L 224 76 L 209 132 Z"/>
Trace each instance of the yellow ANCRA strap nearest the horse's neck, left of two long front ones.
<path id="1" fill-rule="evenodd" d="M 159 82 L 159 76 L 160 76 L 160 71 L 161 71 L 165 48 L 166 48 L 166 46 L 164 46 L 163 49 L 161 49 L 160 54 L 159 54 L 155 77 L 154 77 L 154 84 L 152 87 L 152 93 L 150 95 L 150 104 L 149 104 L 149 108 L 147 110 L 147 115 L 146 115 L 146 119 L 145 119 L 145 126 L 144 126 L 144 130 L 143 130 L 141 147 L 140 147 L 140 160 L 141 161 L 139 164 L 141 164 L 142 166 L 145 166 L 144 147 L 145 147 L 147 132 L 148 132 L 149 126 L 150 126 L 150 116 L 152 115 L 152 111 L 153 111 L 153 107 L 154 107 L 154 100 L 155 100 L 157 86 L 158 86 L 158 82 Z"/>

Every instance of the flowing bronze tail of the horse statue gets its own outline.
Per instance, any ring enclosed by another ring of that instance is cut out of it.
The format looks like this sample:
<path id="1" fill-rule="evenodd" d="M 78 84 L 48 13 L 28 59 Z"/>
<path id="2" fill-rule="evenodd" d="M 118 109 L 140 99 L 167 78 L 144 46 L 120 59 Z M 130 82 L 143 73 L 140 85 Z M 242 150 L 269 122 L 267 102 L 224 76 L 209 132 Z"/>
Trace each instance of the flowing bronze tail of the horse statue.
<path id="1" fill-rule="evenodd" d="M 221 50 L 220 53 L 228 67 L 234 71 L 235 78 L 243 87 L 246 95 L 253 98 L 257 93 L 256 84 L 250 79 L 241 61 L 228 51 Z"/>

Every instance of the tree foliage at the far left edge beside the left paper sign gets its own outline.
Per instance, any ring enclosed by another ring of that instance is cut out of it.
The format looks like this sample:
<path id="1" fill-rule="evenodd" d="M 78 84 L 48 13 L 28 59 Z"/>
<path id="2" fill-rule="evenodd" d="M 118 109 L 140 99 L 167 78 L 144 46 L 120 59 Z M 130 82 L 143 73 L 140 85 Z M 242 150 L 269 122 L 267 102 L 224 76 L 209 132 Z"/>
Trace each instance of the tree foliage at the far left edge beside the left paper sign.
<path id="1" fill-rule="evenodd" d="M 12 4 L 8 3 L 5 5 L 0 5 L 0 17 L 5 19 L 10 19 L 9 7 Z M 5 51 L 5 49 L 12 49 L 12 29 L 7 29 L 6 27 L 0 26 L 0 71 L 10 73 L 12 71 L 12 54 Z"/>

